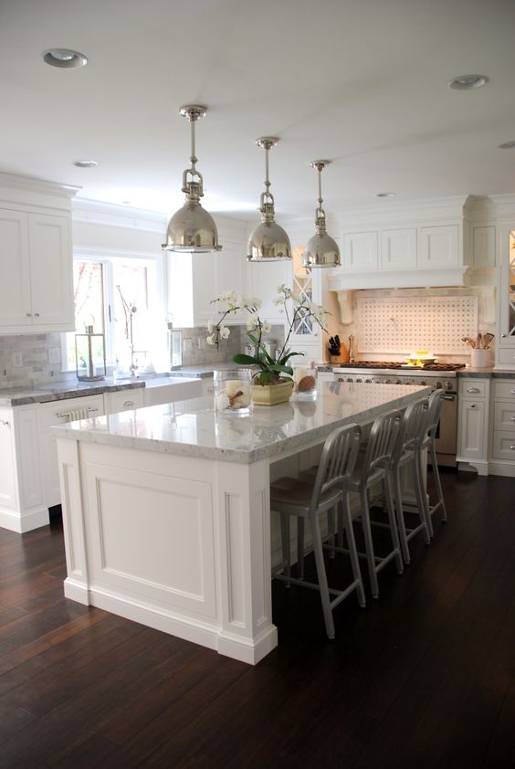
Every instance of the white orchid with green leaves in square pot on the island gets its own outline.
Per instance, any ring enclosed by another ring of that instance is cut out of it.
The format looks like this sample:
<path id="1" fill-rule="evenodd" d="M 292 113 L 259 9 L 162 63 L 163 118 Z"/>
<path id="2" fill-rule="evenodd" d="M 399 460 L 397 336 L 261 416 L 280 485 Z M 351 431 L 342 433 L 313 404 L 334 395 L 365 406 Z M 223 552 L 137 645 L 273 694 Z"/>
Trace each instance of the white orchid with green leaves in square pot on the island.
<path id="1" fill-rule="evenodd" d="M 289 311 L 287 301 L 291 300 L 292 310 Z M 235 363 L 257 368 L 254 374 L 253 400 L 257 405 L 273 406 L 289 400 L 293 389 L 293 368 L 289 364 L 292 357 L 303 355 L 289 349 L 289 339 L 297 321 L 301 318 L 312 318 L 313 321 L 321 326 L 325 331 L 324 314 L 322 307 L 311 302 L 307 297 L 301 297 L 295 294 L 284 284 L 278 287 L 278 296 L 274 299 L 275 304 L 285 306 L 285 315 L 287 319 L 287 330 L 285 340 L 279 348 L 277 358 L 268 354 L 263 342 L 263 334 L 271 331 L 268 321 L 264 321 L 258 314 L 261 307 L 261 300 L 238 299 L 234 291 L 229 291 L 213 300 L 213 303 L 224 305 L 224 312 L 221 319 L 214 325 L 211 321 L 207 326 L 207 343 L 219 346 L 221 340 L 227 339 L 230 329 L 225 322 L 227 315 L 234 314 L 239 310 L 248 312 L 247 336 L 254 345 L 254 354 L 237 353 L 233 360 Z"/>

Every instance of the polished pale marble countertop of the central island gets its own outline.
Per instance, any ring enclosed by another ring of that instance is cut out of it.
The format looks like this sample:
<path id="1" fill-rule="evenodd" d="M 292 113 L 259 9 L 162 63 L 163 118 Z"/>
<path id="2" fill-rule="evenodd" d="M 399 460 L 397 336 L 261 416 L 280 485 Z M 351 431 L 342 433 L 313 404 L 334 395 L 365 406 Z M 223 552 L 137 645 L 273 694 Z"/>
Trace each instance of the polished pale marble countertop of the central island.
<path id="1" fill-rule="evenodd" d="M 322 442 L 333 429 L 366 424 L 385 410 L 403 408 L 428 387 L 405 384 L 323 383 L 316 400 L 255 406 L 249 416 L 215 415 L 213 398 L 149 406 L 53 427 L 57 437 L 184 457 L 248 464 Z"/>

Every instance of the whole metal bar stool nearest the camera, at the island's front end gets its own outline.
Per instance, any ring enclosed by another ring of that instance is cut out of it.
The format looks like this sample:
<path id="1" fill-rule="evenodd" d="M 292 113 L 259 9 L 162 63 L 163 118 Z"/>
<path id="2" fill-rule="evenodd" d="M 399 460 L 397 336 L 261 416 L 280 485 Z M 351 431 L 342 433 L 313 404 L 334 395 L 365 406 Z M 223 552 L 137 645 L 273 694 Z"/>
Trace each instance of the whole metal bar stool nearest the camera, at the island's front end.
<path id="1" fill-rule="evenodd" d="M 329 638 L 334 637 L 332 610 L 354 590 L 360 606 L 365 605 L 363 579 L 360 571 L 356 543 L 352 531 L 349 506 L 349 484 L 360 447 L 361 427 L 351 425 L 334 430 L 327 438 L 321 453 L 321 461 L 315 476 L 308 479 L 281 478 L 270 485 L 270 507 L 281 517 L 283 563 L 272 576 L 288 584 L 301 585 L 318 590 L 325 629 Z M 329 587 L 322 550 L 321 513 L 338 508 L 342 526 L 347 536 L 348 553 L 352 565 L 352 582 L 344 589 Z M 299 521 L 308 519 L 311 524 L 313 551 L 317 568 L 318 584 L 296 579 L 290 572 L 289 516 Z M 331 600 L 331 595 L 335 597 Z"/>

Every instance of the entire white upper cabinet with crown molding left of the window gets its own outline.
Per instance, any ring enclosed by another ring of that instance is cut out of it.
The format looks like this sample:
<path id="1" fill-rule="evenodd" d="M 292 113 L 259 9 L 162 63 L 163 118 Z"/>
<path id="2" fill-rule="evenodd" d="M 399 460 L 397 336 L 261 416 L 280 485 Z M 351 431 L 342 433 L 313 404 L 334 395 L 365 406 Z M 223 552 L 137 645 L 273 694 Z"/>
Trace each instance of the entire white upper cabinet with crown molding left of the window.
<path id="1" fill-rule="evenodd" d="M 0 334 L 74 329 L 73 193 L 31 181 L 0 174 Z"/>

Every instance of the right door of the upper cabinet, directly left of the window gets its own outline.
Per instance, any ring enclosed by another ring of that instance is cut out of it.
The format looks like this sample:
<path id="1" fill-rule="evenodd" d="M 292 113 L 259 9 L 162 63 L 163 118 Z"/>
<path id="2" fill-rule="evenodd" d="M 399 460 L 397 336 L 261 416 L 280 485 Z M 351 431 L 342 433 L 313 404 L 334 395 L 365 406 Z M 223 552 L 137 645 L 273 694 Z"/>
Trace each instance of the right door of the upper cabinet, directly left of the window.
<path id="1" fill-rule="evenodd" d="M 74 328 L 73 277 L 66 216 L 28 215 L 33 324 Z"/>

